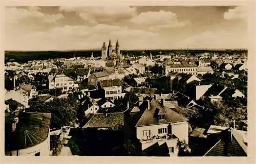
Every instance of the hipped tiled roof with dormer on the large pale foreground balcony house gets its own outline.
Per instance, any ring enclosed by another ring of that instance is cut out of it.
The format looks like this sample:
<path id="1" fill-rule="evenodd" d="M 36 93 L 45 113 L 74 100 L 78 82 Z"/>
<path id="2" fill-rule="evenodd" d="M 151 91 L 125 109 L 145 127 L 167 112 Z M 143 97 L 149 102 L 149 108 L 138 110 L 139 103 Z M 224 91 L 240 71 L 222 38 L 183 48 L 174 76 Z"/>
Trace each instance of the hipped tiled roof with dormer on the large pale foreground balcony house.
<path id="1" fill-rule="evenodd" d="M 156 110 L 162 111 L 166 113 L 165 120 L 158 120 L 155 118 Z M 164 123 L 175 123 L 188 121 L 188 119 L 184 118 L 181 114 L 175 112 L 172 109 L 167 108 L 166 106 L 163 108 L 156 100 L 152 99 L 150 102 L 150 110 L 146 109 L 139 119 L 137 126 L 147 126 L 147 125 L 155 125 L 155 124 L 164 124 Z"/>

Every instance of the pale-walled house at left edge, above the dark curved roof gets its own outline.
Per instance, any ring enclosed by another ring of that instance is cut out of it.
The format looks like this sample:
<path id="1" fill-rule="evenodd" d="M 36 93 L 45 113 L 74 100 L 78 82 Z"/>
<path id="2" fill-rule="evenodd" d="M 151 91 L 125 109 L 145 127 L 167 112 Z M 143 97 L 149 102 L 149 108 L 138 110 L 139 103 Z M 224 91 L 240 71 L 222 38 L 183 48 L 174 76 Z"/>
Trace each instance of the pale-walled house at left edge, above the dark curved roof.
<path id="1" fill-rule="evenodd" d="M 26 90 L 16 89 L 10 90 L 5 93 L 5 100 L 15 100 L 20 104 L 24 105 L 24 107 L 29 107 L 29 95 Z"/>

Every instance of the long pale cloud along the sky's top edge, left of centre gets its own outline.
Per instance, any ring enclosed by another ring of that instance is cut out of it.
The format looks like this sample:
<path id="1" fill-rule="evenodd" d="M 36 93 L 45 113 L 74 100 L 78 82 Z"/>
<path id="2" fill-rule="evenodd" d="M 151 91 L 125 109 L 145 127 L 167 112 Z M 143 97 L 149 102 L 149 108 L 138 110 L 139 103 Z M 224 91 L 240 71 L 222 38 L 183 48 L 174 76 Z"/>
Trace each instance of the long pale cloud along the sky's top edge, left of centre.
<path id="1" fill-rule="evenodd" d="M 131 19 L 136 16 L 136 8 L 129 6 L 106 6 L 106 7 L 60 7 L 60 11 L 75 12 L 85 22 L 92 24 L 113 23 Z"/>

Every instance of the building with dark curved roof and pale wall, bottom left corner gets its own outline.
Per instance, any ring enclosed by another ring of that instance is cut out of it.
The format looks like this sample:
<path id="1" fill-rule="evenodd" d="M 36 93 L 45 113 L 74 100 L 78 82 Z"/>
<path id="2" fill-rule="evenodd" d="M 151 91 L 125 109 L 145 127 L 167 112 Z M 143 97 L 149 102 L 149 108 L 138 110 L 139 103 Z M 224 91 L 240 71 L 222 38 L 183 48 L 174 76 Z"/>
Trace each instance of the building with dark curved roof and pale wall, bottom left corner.
<path id="1" fill-rule="evenodd" d="M 51 113 L 5 113 L 5 155 L 49 156 Z"/>

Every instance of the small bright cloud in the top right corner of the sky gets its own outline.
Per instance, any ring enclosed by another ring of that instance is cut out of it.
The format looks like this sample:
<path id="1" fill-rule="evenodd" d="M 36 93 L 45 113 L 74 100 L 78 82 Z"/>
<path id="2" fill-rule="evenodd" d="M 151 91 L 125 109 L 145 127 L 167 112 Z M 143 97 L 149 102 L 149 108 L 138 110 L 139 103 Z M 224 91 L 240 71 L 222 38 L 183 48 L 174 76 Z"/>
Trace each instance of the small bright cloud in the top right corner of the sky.
<path id="1" fill-rule="evenodd" d="M 233 9 L 228 9 L 227 12 L 223 14 L 224 19 L 247 19 L 247 9 L 244 6 L 238 6 Z"/>

